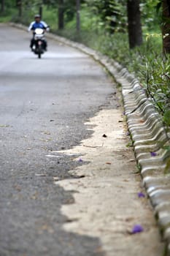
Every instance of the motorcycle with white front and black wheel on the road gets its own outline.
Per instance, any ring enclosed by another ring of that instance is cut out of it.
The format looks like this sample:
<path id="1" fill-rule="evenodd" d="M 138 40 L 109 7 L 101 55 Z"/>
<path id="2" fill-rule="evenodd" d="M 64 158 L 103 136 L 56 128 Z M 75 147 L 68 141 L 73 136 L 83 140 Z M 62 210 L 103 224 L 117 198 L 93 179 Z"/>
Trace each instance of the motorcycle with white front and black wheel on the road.
<path id="1" fill-rule="evenodd" d="M 45 53 L 45 30 L 44 29 L 35 29 L 34 31 L 34 47 L 33 51 L 38 55 L 38 58 L 41 59 L 42 54 Z"/>

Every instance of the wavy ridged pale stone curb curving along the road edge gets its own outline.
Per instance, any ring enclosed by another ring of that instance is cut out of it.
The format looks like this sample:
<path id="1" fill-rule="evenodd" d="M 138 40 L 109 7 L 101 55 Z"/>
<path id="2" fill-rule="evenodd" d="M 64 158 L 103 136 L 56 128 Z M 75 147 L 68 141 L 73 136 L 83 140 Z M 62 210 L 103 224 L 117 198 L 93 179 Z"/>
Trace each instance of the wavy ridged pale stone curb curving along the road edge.
<path id="1" fill-rule="evenodd" d="M 26 26 L 21 24 L 10 25 L 26 30 Z M 170 134 L 166 133 L 161 116 L 139 81 L 116 61 L 69 39 L 54 34 L 47 34 L 47 38 L 77 48 L 93 57 L 122 86 L 125 116 L 134 142 L 136 162 L 140 167 L 143 185 L 150 197 L 161 236 L 166 243 L 165 255 L 170 256 L 170 173 L 166 172 L 170 157 L 166 157 L 166 149 L 163 149 L 163 146 L 170 146 Z"/>

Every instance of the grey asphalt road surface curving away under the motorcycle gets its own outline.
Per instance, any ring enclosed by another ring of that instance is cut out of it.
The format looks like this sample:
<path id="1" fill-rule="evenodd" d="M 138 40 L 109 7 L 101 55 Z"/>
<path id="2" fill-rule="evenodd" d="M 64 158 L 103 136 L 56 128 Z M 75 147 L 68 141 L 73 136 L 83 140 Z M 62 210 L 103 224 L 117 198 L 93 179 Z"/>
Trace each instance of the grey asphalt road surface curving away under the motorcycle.
<path id="1" fill-rule="evenodd" d="M 63 230 L 69 219 L 61 206 L 74 197 L 53 178 L 68 178 L 82 163 L 52 156 L 90 136 L 84 122 L 101 105 L 117 104 L 112 81 L 88 56 L 53 40 L 37 59 L 30 37 L 0 25 L 0 255 L 104 255 L 98 238 Z"/>

